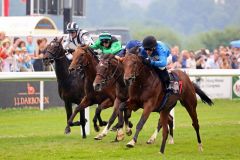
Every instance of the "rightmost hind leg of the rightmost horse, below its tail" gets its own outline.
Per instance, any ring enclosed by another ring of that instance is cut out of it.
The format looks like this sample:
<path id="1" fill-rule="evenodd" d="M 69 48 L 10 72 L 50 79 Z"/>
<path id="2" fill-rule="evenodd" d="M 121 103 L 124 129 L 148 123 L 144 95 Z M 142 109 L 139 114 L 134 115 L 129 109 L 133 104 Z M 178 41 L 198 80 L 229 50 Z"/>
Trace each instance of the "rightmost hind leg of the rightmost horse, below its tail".
<path id="1" fill-rule="evenodd" d="M 202 147 L 202 141 L 201 141 L 200 132 L 199 132 L 199 124 L 198 124 L 198 117 L 197 117 L 197 111 L 196 111 L 197 100 L 195 102 L 189 102 L 186 99 L 186 101 L 180 101 L 180 102 L 186 108 L 189 116 L 192 119 L 192 126 L 195 129 L 195 132 L 197 135 L 198 149 L 199 151 L 202 152 L 203 147 Z"/>

